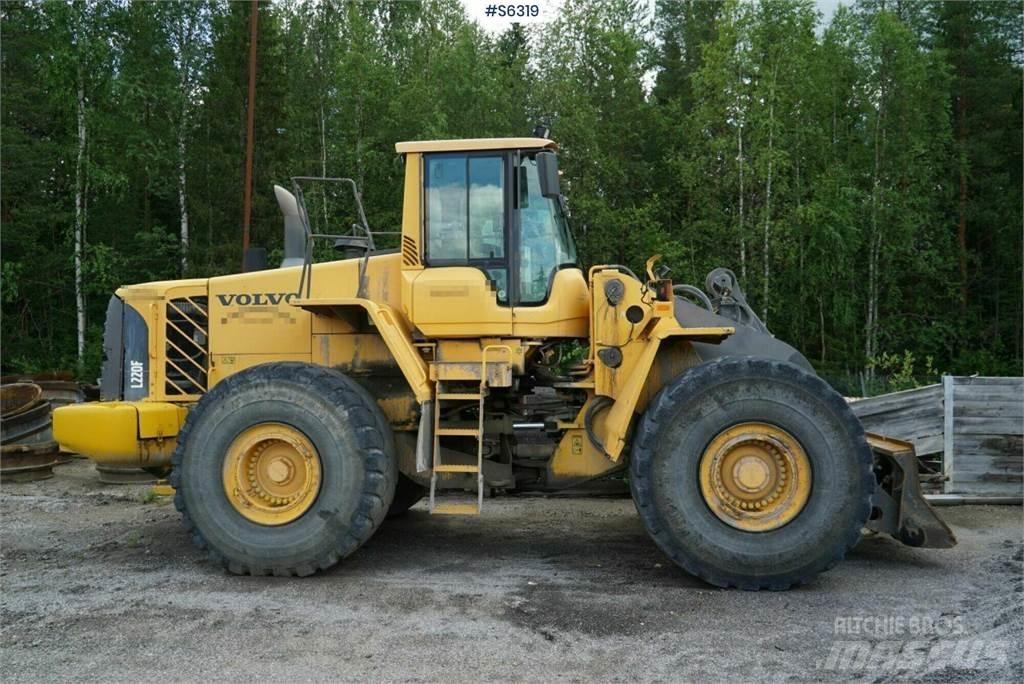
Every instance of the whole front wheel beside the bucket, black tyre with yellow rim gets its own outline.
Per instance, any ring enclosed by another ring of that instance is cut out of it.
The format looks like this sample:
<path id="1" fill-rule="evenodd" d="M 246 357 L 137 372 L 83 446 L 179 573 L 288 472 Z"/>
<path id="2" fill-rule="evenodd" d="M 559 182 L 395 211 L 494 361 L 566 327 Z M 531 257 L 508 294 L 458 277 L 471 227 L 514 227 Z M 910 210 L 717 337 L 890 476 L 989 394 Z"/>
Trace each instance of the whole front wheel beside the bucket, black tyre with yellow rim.
<path id="1" fill-rule="evenodd" d="M 688 572 L 782 590 L 856 544 L 870 512 L 871 453 L 820 378 L 728 357 L 662 389 L 637 432 L 630 485 L 647 531 Z"/>

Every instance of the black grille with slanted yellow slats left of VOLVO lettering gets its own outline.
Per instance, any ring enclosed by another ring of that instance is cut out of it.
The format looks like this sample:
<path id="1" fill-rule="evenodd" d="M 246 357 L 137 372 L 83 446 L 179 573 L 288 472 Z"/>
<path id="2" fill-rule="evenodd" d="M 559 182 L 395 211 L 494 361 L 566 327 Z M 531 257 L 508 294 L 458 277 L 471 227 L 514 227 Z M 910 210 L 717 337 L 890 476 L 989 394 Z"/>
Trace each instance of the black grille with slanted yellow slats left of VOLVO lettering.
<path id="1" fill-rule="evenodd" d="M 168 396 L 206 391 L 210 368 L 207 310 L 206 297 L 181 297 L 167 302 L 164 378 Z"/>

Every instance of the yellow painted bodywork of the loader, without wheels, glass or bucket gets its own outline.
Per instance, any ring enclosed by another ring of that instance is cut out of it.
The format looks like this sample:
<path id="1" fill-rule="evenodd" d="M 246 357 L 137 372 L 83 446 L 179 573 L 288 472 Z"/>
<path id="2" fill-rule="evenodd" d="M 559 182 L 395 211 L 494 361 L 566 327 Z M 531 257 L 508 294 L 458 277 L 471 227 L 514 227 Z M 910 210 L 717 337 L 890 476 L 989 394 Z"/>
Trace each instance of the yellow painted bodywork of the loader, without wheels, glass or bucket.
<path id="1" fill-rule="evenodd" d="M 719 341 L 733 329 L 681 326 L 671 301 L 658 300 L 616 266 L 594 266 L 586 276 L 579 269 L 558 270 L 545 303 L 502 309 L 480 270 L 428 267 L 423 256 L 424 154 L 554 147 L 545 138 L 398 143 L 396 152 L 406 161 L 399 249 L 313 265 L 308 296 L 296 294 L 299 267 L 118 290 L 150 331 L 147 394 L 138 401 L 61 409 L 54 420 L 57 438 L 97 461 L 167 463 L 185 407 L 202 391 L 175 386 L 171 376 L 193 370 L 181 368 L 184 343 L 180 338 L 175 343 L 166 331 L 171 317 L 183 315 L 175 302 L 193 302 L 202 310 L 205 301 L 208 364 L 201 390 L 244 369 L 281 360 L 401 380 L 375 381 L 381 388 L 377 399 L 397 431 L 417 429 L 419 407 L 433 399 L 439 381 L 479 379 L 488 345 L 510 349 L 505 361 L 490 365 L 498 375 L 489 381 L 500 387 L 523 372 L 542 341 L 589 340 L 584 359 L 589 372 L 571 383 L 589 398 L 573 421 L 559 423 L 563 434 L 549 471 L 554 481 L 568 482 L 614 470 L 637 413 L 669 379 L 697 362 L 687 342 Z M 613 281 L 617 284 L 609 285 Z M 621 290 L 614 300 L 606 294 L 609 287 Z M 477 312 L 483 314 L 474 317 Z M 615 362 L 602 358 L 602 349 L 617 350 Z M 595 401 L 602 405 L 588 434 L 585 417 Z"/>

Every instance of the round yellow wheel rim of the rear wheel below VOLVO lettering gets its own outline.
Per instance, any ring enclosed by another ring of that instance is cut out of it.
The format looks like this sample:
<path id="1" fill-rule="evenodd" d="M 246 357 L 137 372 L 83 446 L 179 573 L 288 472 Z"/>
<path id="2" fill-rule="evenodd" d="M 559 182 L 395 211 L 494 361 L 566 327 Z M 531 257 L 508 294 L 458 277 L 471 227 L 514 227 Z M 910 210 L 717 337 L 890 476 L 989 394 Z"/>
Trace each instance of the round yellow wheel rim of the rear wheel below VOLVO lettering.
<path id="1" fill-rule="evenodd" d="M 299 430 L 261 423 L 228 446 L 223 475 L 234 510 L 261 525 L 283 525 L 301 517 L 316 500 L 321 460 Z"/>

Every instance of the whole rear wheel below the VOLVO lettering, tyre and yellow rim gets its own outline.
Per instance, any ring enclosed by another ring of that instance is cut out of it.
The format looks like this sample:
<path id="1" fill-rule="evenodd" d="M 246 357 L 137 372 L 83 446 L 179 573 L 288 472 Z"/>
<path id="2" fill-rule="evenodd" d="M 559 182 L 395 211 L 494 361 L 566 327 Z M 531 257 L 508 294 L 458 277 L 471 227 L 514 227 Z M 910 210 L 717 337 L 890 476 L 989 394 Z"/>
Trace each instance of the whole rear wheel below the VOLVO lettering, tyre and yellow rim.
<path id="1" fill-rule="evenodd" d="M 370 539 L 394 496 L 379 414 L 323 367 L 265 364 L 223 380 L 178 435 L 171 484 L 185 529 L 238 574 L 331 567 Z"/>

